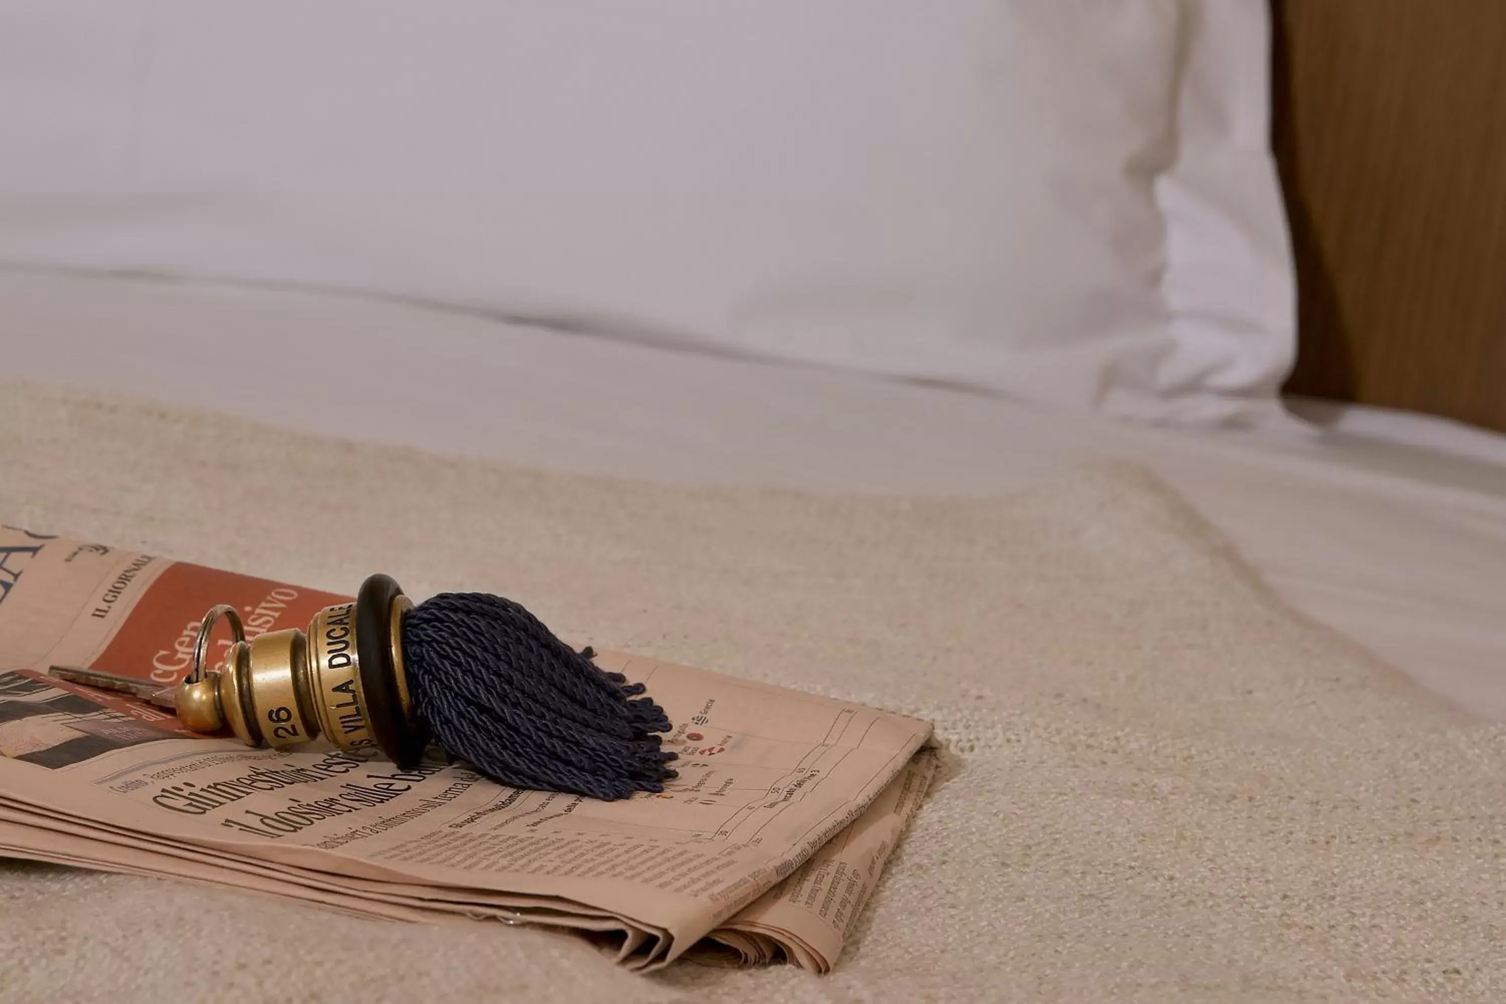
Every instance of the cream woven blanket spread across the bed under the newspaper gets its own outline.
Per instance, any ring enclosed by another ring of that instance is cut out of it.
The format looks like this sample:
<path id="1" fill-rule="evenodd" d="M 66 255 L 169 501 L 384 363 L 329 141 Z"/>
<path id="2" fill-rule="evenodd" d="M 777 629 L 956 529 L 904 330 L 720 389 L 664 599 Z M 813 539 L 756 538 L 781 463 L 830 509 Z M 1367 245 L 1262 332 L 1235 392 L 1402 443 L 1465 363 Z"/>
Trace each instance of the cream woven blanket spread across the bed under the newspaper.
<path id="1" fill-rule="evenodd" d="M 1506 733 L 1297 617 L 1137 470 L 687 491 L 12 385 L 0 471 L 6 522 L 494 590 L 580 641 L 928 716 L 949 750 L 828 977 L 645 978 L 560 935 L 3 863 L 0 999 L 1506 999 Z"/>

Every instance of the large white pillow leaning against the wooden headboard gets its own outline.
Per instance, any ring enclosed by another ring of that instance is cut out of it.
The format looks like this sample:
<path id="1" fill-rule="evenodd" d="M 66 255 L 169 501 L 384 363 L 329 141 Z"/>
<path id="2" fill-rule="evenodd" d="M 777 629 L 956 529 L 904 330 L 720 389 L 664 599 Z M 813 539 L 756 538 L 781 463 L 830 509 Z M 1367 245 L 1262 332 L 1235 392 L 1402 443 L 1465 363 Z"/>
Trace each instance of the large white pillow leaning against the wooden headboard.
<path id="1" fill-rule="evenodd" d="M 1294 354 L 1267 35 L 1265 0 L 0 0 L 0 262 L 1254 420 Z"/>

